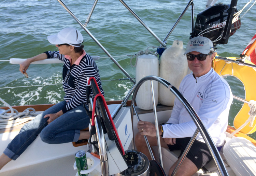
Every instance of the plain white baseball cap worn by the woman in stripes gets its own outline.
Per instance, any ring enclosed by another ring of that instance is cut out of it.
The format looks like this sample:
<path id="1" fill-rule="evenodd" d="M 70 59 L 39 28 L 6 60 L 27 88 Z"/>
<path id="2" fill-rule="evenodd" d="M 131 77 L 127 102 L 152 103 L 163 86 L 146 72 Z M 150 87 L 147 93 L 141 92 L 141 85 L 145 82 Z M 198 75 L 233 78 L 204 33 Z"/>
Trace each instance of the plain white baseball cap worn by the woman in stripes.
<path id="1" fill-rule="evenodd" d="M 82 34 L 75 28 L 64 28 L 57 35 L 50 35 L 47 39 L 53 45 L 67 43 L 74 47 L 80 47 L 84 41 Z"/>

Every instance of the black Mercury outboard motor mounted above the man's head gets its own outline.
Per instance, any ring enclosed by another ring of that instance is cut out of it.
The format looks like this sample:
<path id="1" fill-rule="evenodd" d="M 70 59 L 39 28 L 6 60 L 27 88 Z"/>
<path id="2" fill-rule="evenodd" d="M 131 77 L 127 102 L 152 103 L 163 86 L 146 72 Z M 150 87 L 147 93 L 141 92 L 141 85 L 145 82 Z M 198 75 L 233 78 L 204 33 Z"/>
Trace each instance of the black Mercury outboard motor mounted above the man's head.
<path id="1" fill-rule="evenodd" d="M 224 44 L 221 40 L 224 37 L 225 25 L 228 24 L 228 12 L 230 10 L 230 5 L 225 4 L 215 4 L 197 15 L 194 34 L 190 38 L 196 36 L 203 36 L 209 38 L 214 45 Z M 238 12 L 235 8 L 234 13 Z M 237 18 L 230 18 L 232 20 L 232 25 L 230 28 L 229 36 L 233 35 L 237 29 L 241 26 L 240 16 Z"/>

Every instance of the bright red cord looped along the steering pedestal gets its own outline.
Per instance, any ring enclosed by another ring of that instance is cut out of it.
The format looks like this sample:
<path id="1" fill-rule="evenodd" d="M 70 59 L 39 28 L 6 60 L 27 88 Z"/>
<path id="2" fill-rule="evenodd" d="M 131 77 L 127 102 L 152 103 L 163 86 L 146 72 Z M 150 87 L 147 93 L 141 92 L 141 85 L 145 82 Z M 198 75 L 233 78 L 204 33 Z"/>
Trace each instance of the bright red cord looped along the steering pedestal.
<path id="1" fill-rule="evenodd" d="M 98 86 L 98 84 L 97 84 L 95 78 L 94 78 L 94 77 L 90 77 L 90 78 L 89 78 L 89 81 L 90 81 L 91 78 L 95 81 L 95 83 L 96 83 L 96 85 L 97 85 L 97 87 L 98 87 L 98 90 L 99 90 L 99 86 Z M 88 82 L 89 82 L 89 81 L 88 81 Z M 90 83 L 89 83 L 89 84 L 90 84 Z M 99 91 L 99 92 L 100 92 L 100 91 Z M 102 98 L 102 101 L 103 101 L 103 103 L 104 103 L 105 110 L 106 110 L 106 112 L 107 112 L 107 114 L 108 114 L 108 116 L 109 116 L 110 123 L 111 123 L 111 125 L 112 125 L 112 127 L 113 127 L 113 130 L 114 130 L 115 135 L 116 135 L 116 137 L 117 137 L 118 143 L 119 143 L 119 145 L 120 145 L 120 147 L 121 147 L 122 153 L 123 153 L 123 155 L 125 155 L 125 151 L 124 151 L 123 145 L 122 145 L 122 143 L 121 143 L 121 140 L 120 140 L 120 138 L 119 138 L 119 135 L 118 135 L 117 130 L 116 130 L 116 127 L 115 127 L 115 124 L 114 124 L 113 119 L 112 119 L 112 117 L 111 117 L 111 114 L 110 114 L 110 112 L 109 112 L 108 105 L 106 104 L 105 98 L 104 98 L 104 96 L 103 96 L 101 93 L 98 93 L 98 94 L 95 96 L 95 98 L 94 98 L 94 102 L 93 102 L 93 112 L 92 112 L 92 116 L 91 116 L 91 125 L 92 125 L 92 126 L 95 126 L 95 122 L 94 122 L 95 116 L 94 116 L 94 113 L 95 113 L 95 108 L 96 108 L 96 100 L 97 100 L 97 98 L 98 98 L 99 96 Z"/>

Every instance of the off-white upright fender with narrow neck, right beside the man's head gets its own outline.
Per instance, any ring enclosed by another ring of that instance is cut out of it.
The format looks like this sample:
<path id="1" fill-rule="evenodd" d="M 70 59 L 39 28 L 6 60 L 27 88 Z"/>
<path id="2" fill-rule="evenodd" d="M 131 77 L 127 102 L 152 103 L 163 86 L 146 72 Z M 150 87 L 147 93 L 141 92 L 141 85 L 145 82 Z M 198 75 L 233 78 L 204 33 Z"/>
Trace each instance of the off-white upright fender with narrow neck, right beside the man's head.
<path id="1" fill-rule="evenodd" d="M 177 89 L 181 80 L 190 71 L 187 58 L 184 55 L 183 41 L 174 40 L 172 47 L 166 49 L 162 55 L 159 66 L 159 77 L 165 79 Z M 173 106 L 175 96 L 165 86 L 159 84 L 158 102 L 162 105 Z"/>

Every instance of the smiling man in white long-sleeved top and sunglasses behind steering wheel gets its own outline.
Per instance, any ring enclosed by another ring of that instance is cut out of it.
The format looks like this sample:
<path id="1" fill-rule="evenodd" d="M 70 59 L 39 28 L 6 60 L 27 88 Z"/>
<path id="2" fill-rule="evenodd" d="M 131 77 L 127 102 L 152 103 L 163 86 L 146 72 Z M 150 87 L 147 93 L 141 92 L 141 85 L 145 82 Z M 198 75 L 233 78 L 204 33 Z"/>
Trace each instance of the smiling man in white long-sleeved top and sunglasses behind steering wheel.
<path id="1" fill-rule="evenodd" d="M 228 83 L 212 68 L 215 57 L 213 51 L 213 43 L 206 37 L 194 37 L 189 40 L 184 54 L 193 73 L 183 78 L 179 90 L 197 112 L 217 148 L 221 149 L 226 137 L 228 113 L 233 96 Z M 143 135 L 147 135 L 150 146 L 156 146 L 155 125 L 139 121 L 137 127 L 140 133 L 135 138 L 136 147 L 151 158 Z M 170 119 L 165 125 L 159 126 L 161 146 L 169 148 L 170 151 L 181 149 L 183 152 L 195 130 L 193 120 L 175 98 Z M 210 160 L 208 147 L 201 134 L 198 134 L 176 175 L 193 175 Z M 171 166 L 169 175 L 176 165 L 177 161 Z"/>

